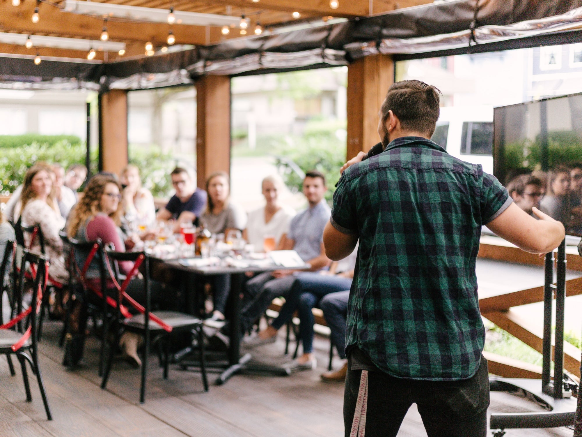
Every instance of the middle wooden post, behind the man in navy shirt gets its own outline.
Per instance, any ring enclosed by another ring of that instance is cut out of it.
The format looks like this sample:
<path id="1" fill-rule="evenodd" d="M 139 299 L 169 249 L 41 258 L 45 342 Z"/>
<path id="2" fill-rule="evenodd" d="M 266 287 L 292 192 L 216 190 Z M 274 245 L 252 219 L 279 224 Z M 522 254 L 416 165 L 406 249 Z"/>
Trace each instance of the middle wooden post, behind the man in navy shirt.
<path id="1" fill-rule="evenodd" d="M 215 171 L 230 174 L 230 77 L 204 76 L 196 83 L 197 184 Z"/>

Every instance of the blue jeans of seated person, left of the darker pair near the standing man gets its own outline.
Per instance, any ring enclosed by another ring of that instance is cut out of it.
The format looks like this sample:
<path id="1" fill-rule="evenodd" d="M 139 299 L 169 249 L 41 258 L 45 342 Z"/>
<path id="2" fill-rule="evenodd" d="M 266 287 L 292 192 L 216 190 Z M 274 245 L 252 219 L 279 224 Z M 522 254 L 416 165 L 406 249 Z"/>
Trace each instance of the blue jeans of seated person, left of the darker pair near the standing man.
<path id="1" fill-rule="evenodd" d="M 301 273 L 291 287 L 281 308 L 278 318 L 271 324 L 279 329 L 292 319 L 295 311 L 299 312 L 299 338 L 303 344 L 303 353 L 313 352 L 313 325 L 315 319 L 311 309 L 315 308 L 320 299 L 327 294 L 349 290 L 352 279 L 339 276 L 324 276 L 319 273 Z M 345 343 L 345 340 L 344 340 Z"/>

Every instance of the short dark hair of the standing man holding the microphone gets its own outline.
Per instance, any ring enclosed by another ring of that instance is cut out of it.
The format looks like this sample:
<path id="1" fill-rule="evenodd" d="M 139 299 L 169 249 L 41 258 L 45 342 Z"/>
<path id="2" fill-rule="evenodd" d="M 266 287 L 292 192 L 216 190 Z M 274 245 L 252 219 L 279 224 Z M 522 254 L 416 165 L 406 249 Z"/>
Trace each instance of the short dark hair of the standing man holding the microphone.
<path id="1" fill-rule="evenodd" d="M 416 131 L 432 136 L 441 114 L 441 91 L 420 80 L 402 80 L 393 83 L 382 103 L 382 124 L 388 119 L 388 111 L 400 120 L 400 125 L 408 131 Z"/>

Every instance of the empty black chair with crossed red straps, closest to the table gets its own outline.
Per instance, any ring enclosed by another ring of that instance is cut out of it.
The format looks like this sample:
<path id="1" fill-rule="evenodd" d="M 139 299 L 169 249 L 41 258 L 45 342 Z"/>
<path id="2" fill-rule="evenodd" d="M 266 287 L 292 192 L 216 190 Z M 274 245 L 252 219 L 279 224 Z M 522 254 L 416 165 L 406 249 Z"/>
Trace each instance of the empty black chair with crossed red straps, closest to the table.
<path id="1" fill-rule="evenodd" d="M 150 311 L 151 310 L 151 290 L 150 290 L 150 258 L 144 252 L 106 252 L 107 258 L 114 264 L 106 260 L 105 265 L 108 267 L 109 276 L 115 285 L 117 292 L 116 309 L 118 312 L 118 323 L 114 326 L 115 339 L 111 344 L 109 350 L 109 358 L 105 373 L 101 382 L 101 388 L 107 386 L 107 380 L 111 371 L 111 364 L 113 361 L 113 354 L 119 344 L 119 339 L 124 331 L 137 333 L 144 338 L 143 358 L 141 364 L 141 386 L 140 386 L 140 402 L 145 401 L 145 375 L 147 372 L 148 355 L 150 354 L 150 333 L 154 334 L 154 340 L 164 344 L 164 379 L 168 378 L 168 364 L 169 364 L 169 341 L 171 336 L 183 333 L 196 334 L 198 343 L 198 353 L 200 354 L 200 371 L 204 384 L 204 390 L 208 391 L 208 379 L 206 376 L 206 368 L 204 364 L 204 339 L 202 331 L 202 320 L 186 313 L 176 311 Z M 119 263 L 133 262 L 133 268 L 127 273 L 125 280 L 119 284 Z M 145 291 L 145 306 L 136 302 L 129 294 L 127 294 L 127 286 L 130 281 L 140 271 L 143 273 L 143 286 Z M 124 313 L 124 305 L 129 305 L 134 312 L 138 314 L 131 316 Z"/>

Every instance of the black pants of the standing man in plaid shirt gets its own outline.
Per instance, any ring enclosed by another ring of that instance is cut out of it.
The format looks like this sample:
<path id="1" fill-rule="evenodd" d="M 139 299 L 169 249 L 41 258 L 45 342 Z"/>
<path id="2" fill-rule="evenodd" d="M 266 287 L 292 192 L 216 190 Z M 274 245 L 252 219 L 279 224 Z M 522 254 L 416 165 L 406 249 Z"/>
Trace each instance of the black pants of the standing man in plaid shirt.
<path id="1" fill-rule="evenodd" d="M 352 429 L 361 372 L 347 371 L 343 397 L 346 437 Z M 487 361 L 481 357 L 477 373 L 462 381 L 410 380 L 369 372 L 365 436 L 396 436 L 413 403 L 418 406 L 428 437 L 484 437 L 489 406 Z"/>

